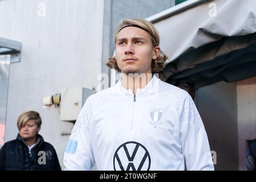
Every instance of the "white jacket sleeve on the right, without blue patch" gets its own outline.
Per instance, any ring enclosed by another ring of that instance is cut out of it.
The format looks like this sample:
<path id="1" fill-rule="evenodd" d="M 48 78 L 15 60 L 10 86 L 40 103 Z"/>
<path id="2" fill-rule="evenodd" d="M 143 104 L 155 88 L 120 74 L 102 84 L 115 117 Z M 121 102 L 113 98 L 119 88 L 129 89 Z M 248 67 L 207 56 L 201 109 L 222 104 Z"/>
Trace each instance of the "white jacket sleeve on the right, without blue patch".
<path id="1" fill-rule="evenodd" d="M 214 170 L 204 124 L 188 94 L 180 113 L 180 137 L 187 170 Z"/>

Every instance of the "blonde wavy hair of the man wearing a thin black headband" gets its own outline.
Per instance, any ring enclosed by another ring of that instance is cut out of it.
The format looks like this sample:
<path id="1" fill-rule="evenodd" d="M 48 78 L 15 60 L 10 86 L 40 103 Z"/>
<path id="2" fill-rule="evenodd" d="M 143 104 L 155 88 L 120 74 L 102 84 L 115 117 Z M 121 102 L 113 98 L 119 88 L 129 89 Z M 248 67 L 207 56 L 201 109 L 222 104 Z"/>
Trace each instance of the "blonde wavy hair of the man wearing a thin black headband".
<path id="1" fill-rule="evenodd" d="M 135 25 L 135 26 L 140 26 L 147 30 L 150 34 L 151 41 L 153 47 L 159 46 L 160 38 L 158 31 L 156 31 L 154 25 L 151 22 L 148 22 L 145 19 L 122 19 L 121 22 L 118 24 L 117 29 L 115 31 L 115 42 L 117 40 L 117 34 L 121 30 L 122 27 L 127 26 L 127 25 Z M 151 71 L 152 73 L 159 73 L 160 71 L 163 70 L 164 68 L 164 62 L 168 59 L 167 55 L 160 55 L 156 59 L 152 59 L 151 63 Z M 117 72 L 121 72 L 121 69 L 118 68 L 117 65 L 117 59 L 115 57 L 110 57 L 108 63 L 106 65 L 110 69 L 115 69 Z"/>

